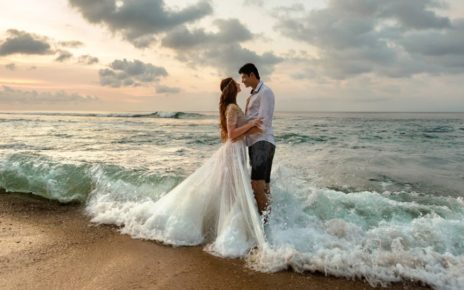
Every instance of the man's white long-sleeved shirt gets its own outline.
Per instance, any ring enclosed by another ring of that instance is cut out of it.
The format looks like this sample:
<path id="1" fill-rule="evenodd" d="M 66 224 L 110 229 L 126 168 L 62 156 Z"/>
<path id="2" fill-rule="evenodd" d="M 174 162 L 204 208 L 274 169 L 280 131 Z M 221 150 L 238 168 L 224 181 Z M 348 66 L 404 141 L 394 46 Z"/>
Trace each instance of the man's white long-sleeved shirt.
<path id="1" fill-rule="evenodd" d="M 258 83 L 251 96 L 247 99 L 245 116 L 247 121 L 263 118 L 263 133 L 250 134 L 246 136 L 246 145 L 251 146 L 258 141 L 267 141 L 274 144 L 274 132 L 272 131 L 272 116 L 274 114 L 274 93 L 271 88 L 262 81 Z"/>

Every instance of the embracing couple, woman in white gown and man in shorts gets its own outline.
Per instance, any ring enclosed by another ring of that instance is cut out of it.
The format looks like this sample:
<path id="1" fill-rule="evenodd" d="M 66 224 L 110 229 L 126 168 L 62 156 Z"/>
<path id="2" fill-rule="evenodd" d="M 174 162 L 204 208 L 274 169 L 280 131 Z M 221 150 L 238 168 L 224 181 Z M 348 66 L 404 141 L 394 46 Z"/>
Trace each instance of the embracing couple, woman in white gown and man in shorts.
<path id="1" fill-rule="evenodd" d="M 263 223 L 270 211 L 274 94 L 254 64 L 245 64 L 239 73 L 252 89 L 245 112 L 236 102 L 240 84 L 233 78 L 222 80 L 223 145 L 155 202 L 143 224 L 150 229 L 150 238 L 177 246 L 206 244 L 206 251 L 223 257 L 244 256 L 266 243 Z"/>

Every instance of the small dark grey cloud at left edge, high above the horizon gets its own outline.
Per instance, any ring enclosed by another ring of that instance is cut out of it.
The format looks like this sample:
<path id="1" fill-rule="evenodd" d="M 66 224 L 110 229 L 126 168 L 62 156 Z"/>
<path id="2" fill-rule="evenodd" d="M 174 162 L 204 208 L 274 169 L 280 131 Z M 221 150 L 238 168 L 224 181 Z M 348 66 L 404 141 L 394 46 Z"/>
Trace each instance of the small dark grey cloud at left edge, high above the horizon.
<path id="1" fill-rule="evenodd" d="M 43 36 L 16 29 L 9 29 L 7 34 L 8 37 L 0 44 L 0 55 L 52 53 L 48 40 Z"/>

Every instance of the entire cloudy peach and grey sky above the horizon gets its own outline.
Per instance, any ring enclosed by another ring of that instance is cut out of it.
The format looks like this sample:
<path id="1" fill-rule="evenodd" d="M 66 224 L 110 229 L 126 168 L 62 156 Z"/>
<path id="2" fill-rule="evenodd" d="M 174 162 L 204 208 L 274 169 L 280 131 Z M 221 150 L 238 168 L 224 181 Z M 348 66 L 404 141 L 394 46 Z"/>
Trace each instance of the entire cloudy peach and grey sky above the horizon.
<path id="1" fill-rule="evenodd" d="M 279 111 L 464 111 L 463 1 L 282 3 L 0 0 L 0 110 L 212 111 L 254 62 Z"/>

